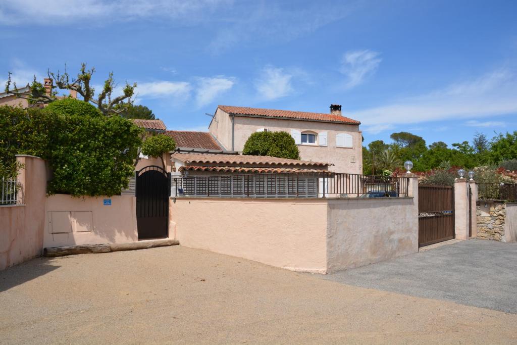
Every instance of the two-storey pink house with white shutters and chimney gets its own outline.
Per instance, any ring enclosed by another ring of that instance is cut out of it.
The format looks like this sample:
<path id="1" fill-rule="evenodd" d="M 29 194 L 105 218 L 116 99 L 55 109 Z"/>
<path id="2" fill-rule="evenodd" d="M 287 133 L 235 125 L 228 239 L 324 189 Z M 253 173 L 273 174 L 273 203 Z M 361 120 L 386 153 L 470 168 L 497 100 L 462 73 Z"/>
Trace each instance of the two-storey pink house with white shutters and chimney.
<path id="1" fill-rule="evenodd" d="M 258 131 L 291 134 L 302 160 L 326 161 L 334 172 L 362 174 L 360 122 L 341 114 L 332 104 L 330 113 L 218 106 L 210 133 L 224 149 L 242 152 L 250 135 Z"/>

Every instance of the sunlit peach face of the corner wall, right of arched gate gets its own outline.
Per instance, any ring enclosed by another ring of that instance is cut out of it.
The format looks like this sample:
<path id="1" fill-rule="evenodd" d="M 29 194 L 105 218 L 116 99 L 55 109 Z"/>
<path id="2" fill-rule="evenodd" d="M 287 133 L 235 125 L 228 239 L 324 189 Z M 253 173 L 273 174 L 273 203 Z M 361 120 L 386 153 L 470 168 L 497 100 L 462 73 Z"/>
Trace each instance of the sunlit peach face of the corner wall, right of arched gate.
<path id="1" fill-rule="evenodd" d="M 295 271 L 326 271 L 324 199 L 177 198 L 170 215 L 171 236 L 182 246 Z"/>

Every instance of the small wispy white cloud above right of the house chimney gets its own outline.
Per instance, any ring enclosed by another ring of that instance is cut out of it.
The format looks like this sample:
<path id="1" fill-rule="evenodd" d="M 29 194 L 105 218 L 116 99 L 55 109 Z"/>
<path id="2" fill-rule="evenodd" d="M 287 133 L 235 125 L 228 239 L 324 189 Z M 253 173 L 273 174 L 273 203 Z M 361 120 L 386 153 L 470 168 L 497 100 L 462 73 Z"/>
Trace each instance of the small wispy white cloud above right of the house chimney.
<path id="1" fill-rule="evenodd" d="M 341 73 L 347 77 L 346 88 L 361 84 L 377 70 L 382 59 L 371 50 L 354 50 L 343 54 Z"/>

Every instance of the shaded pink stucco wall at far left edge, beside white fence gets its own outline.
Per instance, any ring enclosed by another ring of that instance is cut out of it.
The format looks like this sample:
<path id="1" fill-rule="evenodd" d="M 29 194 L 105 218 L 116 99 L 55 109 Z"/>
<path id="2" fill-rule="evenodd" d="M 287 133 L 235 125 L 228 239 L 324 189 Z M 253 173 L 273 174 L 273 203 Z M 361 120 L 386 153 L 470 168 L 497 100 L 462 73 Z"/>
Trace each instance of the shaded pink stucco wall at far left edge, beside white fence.
<path id="1" fill-rule="evenodd" d="M 18 181 L 22 204 L 0 206 L 0 270 L 41 254 L 47 175 L 38 157 L 17 156 L 24 164 Z"/>

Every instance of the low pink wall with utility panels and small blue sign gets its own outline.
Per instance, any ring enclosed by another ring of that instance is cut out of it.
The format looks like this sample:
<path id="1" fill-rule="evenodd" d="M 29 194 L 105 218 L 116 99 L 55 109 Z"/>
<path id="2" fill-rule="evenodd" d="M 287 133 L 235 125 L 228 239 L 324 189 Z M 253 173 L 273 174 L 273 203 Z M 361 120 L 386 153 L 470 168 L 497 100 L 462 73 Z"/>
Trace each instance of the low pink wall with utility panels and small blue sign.
<path id="1" fill-rule="evenodd" d="M 103 205 L 111 199 L 111 206 Z M 44 247 L 138 241 L 136 198 L 132 196 L 47 198 Z"/>

